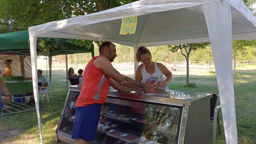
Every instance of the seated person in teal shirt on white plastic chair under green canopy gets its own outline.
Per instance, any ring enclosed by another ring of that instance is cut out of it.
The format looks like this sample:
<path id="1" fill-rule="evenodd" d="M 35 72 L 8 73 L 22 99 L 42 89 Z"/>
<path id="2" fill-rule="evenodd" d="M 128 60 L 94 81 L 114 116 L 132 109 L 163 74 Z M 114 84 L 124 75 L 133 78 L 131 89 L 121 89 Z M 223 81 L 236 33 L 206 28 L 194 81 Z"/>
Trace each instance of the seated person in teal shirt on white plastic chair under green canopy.
<path id="1" fill-rule="evenodd" d="M 48 87 L 48 80 L 45 76 L 42 75 L 43 71 L 38 69 L 37 70 L 37 81 L 38 81 L 38 95 L 40 94 L 40 88 L 41 87 Z M 47 88 L 42 88 L 41 92 L 46 92 Z M 34 96 L 30 97 L 30 101 L 28 104 L 35 103 Z"/>

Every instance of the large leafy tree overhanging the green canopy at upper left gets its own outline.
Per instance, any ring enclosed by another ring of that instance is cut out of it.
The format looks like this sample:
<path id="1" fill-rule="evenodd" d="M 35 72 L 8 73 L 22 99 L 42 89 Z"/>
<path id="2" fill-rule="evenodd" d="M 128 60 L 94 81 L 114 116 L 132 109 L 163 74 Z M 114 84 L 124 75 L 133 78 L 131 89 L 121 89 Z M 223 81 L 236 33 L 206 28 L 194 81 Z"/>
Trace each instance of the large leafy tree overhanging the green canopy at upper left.
<path id="1" fill-rule="evenodd" d="M 134 1 L 137 0 L 1 0 L 0 33 L 27 30 L 31 26 L 99 12 Z M 56 48 L 58 42 L 51 40 L 49 43 L 46 38 L 39 39 L 39 48 L 43 51 Z M 88 40 L 71 41 L 87 48 L 93 44 Z"/>

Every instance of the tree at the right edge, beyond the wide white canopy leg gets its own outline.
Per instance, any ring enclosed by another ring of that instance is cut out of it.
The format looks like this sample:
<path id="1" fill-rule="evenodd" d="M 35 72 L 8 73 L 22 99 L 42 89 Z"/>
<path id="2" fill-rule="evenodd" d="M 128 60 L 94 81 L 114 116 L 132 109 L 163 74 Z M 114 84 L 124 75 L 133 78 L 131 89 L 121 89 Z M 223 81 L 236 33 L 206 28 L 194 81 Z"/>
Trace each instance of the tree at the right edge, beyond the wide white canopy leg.
<path id="1" fill-rule="evenodd" d="M 234 57 L 233 75 L 236 75 L 237 51 L 245 51 L 247 46 L 255 46 L 255 44 L 256 44 L 255 40 L 233 41 L 233 57 Z"/>

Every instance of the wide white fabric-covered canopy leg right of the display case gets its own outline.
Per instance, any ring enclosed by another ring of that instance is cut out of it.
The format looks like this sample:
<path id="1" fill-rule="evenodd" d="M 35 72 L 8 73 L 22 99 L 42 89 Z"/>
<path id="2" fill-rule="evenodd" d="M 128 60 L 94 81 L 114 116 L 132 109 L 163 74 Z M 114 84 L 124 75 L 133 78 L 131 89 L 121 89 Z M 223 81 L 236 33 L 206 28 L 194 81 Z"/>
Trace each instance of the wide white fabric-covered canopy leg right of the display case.
<path id="1" fill-rule="evenodd" d="M 237 124 L 232 73 L 232 17 L 226 1 L 203 5 L 220 94 L 227 144 L 237 144 Z"/>

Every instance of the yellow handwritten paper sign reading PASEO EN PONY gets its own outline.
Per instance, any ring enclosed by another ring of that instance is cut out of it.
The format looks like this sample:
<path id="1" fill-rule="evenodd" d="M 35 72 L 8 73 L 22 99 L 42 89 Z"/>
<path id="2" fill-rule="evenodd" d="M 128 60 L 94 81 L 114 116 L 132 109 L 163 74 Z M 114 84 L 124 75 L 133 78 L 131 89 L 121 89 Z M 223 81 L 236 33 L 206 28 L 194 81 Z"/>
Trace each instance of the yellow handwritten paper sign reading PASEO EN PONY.
<path id="1" fill-rule="evenodd" d="M 122 18 L 122 24 L 119 35 L 134 34 L 137 27 L 137 16 Z"/>

